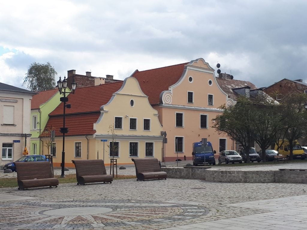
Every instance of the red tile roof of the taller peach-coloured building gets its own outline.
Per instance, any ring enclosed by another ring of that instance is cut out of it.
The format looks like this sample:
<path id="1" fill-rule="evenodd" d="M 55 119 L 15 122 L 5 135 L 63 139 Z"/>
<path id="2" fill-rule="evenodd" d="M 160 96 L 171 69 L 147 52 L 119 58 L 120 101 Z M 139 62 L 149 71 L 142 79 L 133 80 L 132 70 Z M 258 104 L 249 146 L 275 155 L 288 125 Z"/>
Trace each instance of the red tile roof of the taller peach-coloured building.
<path id="1" fill-rule="evenodd" d="M 148 96 L 151 105 L 157 105 L 160 102 L 160 94 L 168 90 L 169 86 L 175 84 L 181 77 L 183 69 L 187 63 L 161 67 L 157 69 L 136 71 L 133 74 L 144 94 Z"/>

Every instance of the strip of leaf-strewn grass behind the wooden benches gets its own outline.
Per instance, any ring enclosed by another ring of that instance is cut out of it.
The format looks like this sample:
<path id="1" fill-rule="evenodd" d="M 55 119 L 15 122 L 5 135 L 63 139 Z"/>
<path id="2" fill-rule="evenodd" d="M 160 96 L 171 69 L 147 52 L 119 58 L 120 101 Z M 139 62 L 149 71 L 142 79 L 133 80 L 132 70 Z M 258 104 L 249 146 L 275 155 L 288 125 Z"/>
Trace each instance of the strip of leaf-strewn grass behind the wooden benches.
<path id="1" fill-rule="evenodd" d="M 77 183 L 76 174 L 66 174 L 64 178 L 60 178 L 60 175 L 56 175 L 56 178 L 59 179 L 60 184 L 64 183 Z M 118 175 L 117 178 L 115 176 L 114 180 L 121 180 L 121 179 L 133 179 L 136 176 L 132 175 Z M 0 178 L 0 188 L 12 188 L 17 187 L 17 178 Z"/>

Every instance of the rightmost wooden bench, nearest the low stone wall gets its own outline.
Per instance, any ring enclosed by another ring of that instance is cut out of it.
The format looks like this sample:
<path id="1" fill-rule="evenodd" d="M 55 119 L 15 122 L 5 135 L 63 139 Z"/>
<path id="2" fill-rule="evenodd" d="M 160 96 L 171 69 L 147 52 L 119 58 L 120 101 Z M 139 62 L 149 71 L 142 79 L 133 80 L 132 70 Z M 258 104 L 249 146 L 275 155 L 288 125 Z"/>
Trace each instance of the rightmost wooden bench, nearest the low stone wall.
<path id="1" fill-rule="evenodd" d="M 161 164 L 157 158 L 132 159 L 135 165 L 137 181 L 145 179 L 165 179 L 167 173 L 161 171 Z"/>

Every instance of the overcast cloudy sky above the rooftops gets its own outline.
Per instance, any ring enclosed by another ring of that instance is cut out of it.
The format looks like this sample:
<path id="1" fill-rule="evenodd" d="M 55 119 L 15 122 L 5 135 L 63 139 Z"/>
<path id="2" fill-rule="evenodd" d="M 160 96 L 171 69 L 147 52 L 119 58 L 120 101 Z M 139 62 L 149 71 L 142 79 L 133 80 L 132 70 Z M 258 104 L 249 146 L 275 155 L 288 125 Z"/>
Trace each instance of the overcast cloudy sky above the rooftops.
<path id="1" fill-rule="evenodd" d="M 114 75 L 204 58 L 269 86 L 307 75 L 307 1 L 5 1 L 0 82 L 21 87 L 33 62 L 58 77 Z M 25 88 L 25 86 L 23 86 Z"/>

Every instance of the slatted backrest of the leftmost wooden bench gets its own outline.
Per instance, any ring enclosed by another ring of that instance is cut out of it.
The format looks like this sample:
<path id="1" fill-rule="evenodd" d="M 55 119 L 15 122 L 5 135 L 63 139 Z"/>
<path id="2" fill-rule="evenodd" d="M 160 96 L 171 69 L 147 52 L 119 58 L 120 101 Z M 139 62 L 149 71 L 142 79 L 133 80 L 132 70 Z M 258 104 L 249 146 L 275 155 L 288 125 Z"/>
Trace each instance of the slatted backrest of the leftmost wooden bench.
<path id="1" fill-rule="evenodd" d="M 49 161 L 42 162 L 15 162 L 17 180 L 53 178 L 52 166 Z"/>

